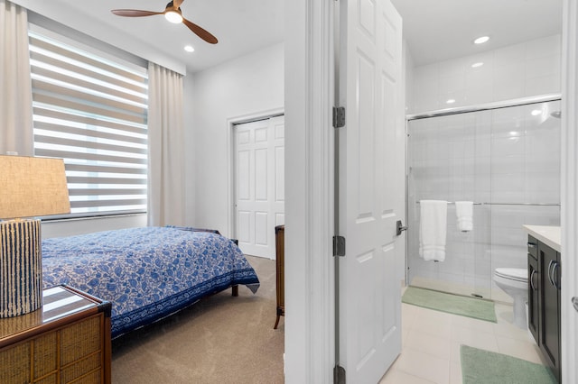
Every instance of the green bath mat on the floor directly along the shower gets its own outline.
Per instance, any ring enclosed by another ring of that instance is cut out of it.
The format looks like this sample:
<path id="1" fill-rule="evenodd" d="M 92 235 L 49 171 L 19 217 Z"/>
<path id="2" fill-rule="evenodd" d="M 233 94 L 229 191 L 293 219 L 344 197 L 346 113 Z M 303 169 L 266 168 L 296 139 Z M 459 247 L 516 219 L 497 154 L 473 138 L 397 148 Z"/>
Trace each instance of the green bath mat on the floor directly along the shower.
<path id="1" fill-rule="evenodd" d="M 431 289 L 407 287 L 402 300 L 406 304 L 462 315 L 496 323 L 494 302 L 475 297 L 452 295 Z"/>

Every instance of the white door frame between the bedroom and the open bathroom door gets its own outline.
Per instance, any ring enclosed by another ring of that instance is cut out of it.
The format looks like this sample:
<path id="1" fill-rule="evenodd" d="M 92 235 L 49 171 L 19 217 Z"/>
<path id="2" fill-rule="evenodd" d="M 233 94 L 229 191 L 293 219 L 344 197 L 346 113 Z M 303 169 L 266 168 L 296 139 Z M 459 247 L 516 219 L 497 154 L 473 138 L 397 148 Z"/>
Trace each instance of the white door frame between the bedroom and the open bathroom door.
<path id="1" fill-rule="evenodd" d="M 332 383 L 335 0 L 284 0 L 285 382 Z"/>

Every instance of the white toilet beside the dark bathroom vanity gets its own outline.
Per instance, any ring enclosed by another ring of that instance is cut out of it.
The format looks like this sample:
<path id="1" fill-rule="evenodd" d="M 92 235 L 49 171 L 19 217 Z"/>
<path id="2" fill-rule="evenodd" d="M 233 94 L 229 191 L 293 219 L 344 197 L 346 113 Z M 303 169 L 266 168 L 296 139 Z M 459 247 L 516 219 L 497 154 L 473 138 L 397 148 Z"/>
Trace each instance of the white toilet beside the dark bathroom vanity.
<path id="1" fill-rule="evenodd" d="M 527 269 L 497 268 L 494 270 L 494 281 L 514 299 L 514 324 L 527 329 Z"/>

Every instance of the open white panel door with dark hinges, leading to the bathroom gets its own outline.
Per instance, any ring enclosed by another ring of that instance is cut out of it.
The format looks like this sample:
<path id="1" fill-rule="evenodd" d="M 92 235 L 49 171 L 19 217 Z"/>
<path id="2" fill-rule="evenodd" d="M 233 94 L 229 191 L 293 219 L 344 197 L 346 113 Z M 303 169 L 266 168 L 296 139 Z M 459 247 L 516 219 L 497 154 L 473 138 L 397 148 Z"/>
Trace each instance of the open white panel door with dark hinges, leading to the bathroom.
<path id="1" fill-rule="evenodd" d="M 389 0 L 344 0 L 340 19 L 339 364 L 347 382 L 377 383 L 401 352 L 402 21 Z"/>

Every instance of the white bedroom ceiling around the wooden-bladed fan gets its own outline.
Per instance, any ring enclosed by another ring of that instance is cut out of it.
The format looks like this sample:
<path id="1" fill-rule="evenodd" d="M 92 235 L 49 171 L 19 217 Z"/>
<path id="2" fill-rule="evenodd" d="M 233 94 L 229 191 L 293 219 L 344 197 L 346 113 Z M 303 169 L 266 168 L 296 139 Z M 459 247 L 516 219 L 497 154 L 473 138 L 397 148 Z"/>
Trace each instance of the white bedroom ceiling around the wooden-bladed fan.
<path id="1" fill-rule="evenodd" d="M 229 59 L 284 40 L 284 0 L 184 0 L 182 15 L 211 32 L 218 44 L 200 40 L 184 24 L 168 23 L 163 15 L 120 17 L 111 9 L 163 12 L 169 0 L 51 0 L 69 13 L 96 19 L 117 31 L 118 39 L 133 39 L 185 63 L 187 71 L 210 68 Z M 188 53 L 185 45 L 195 51 Z"/>

